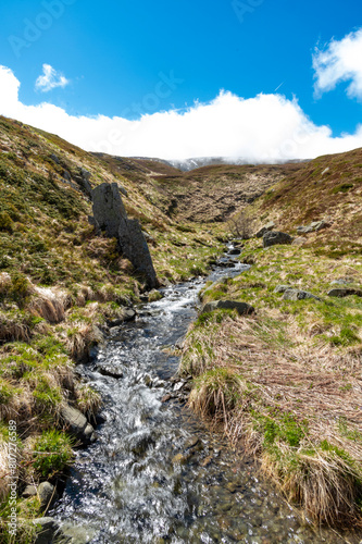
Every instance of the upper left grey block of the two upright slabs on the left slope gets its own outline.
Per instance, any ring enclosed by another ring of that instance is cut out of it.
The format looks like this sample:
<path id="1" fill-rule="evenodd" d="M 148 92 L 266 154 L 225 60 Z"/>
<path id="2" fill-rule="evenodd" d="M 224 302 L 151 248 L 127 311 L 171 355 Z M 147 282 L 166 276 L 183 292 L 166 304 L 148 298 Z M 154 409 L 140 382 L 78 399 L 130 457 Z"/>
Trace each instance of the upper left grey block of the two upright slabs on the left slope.
<path id="1" fill-rule="evenodd" d="M 93 217 L 111 238 L 118 236 L 121 222 L 127 218 L 116 183 L 102 183 L 92 189 Z"/>

